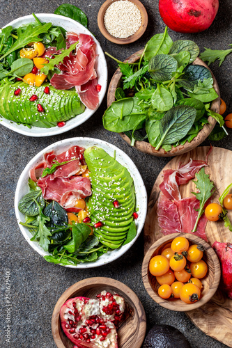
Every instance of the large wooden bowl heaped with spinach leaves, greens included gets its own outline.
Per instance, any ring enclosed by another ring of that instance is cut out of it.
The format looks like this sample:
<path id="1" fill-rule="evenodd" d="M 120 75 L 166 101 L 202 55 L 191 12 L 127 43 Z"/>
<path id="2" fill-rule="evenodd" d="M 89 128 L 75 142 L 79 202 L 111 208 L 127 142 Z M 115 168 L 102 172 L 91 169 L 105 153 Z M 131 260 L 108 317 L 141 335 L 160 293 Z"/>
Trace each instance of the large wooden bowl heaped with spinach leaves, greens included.
<path id="1" fill-rule="evenodd" d="M 141 152 L 171 157 L 188 152 L 212 132 L 220 93 L 190 40 L 173 42 L 165 29 L 132 54 L 111 79 L 104 127 Z"/>

